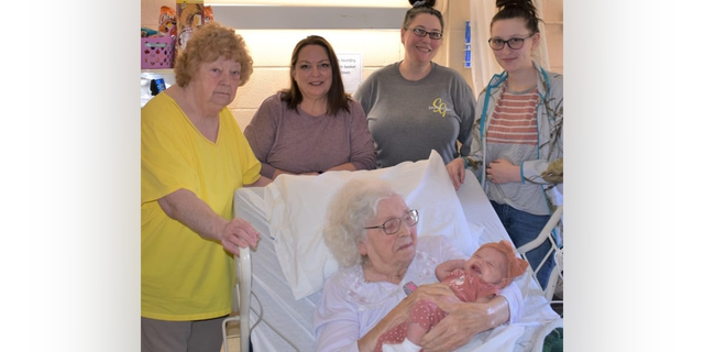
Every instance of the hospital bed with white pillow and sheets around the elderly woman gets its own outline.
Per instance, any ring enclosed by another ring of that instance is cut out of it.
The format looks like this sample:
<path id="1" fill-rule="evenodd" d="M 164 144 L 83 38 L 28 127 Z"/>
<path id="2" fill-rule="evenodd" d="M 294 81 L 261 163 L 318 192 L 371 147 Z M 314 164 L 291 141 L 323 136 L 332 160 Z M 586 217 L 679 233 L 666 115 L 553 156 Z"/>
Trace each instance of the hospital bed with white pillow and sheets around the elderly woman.
<path id="1" fill-rule="evenodd" d="M 249 351 L 250 339 L 255 352 L 315 351 L 312 317 L 321 297 L 319 288 L 337 268 L 337 263 L 324 258 L 318 232 L 326 201 L 352 177 L 392 182 L 409 207 L 419 208 L 419 235 L 446 234 L 468 255 L 484 242 L 509 240 L 477 179 L 466 173 L 455 191 L 436 152 L 427 161 L 385 169 L 286 176 L 266 187 L 240 188 L 234 197 L 235 215 L 252 223 L 262 239 L 256 251 L 243 250 L 237 261 L 239 316 L 222 324 L 226 352 L 226 328 L 233 320 L 240 321 L 241 351 Z M 286 243 L 286 238 L 304 237 L 312 242 Z M 308 272 L 300 268 L 305 265 Z M 562 327 L 562 318 L 531 275 L 516 283 L 525 297 L 520 321 L 482 332 L 458 351 L 542 351 L 544 337 Z"/>

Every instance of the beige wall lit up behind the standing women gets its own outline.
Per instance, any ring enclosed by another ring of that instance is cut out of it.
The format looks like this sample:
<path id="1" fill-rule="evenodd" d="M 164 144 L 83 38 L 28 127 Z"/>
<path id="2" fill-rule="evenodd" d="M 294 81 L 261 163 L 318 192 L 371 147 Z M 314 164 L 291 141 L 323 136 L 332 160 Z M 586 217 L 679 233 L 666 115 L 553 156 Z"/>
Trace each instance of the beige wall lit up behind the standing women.
<path id="1" fill-rule="evenodd" d="M 141 0 L 142 26 L 157 29 L 162 6 L 176 8 L 175 0 Z M 233 0 L 234 1 L 234 0 Z M 562 1 L 542 0 L 546 37 L 551 70 L 562 73 Z M 206 1 L 207 2 L 207 1 Z M 441 1 L 439 1 L 441 2 Z M 353 3 L 351 1 L 351 3 Z M 464 68 L 464 21 L 470 19 L 470 1 L 449 0 L 444 4 L 446 41 L 436 56 L 436 62 L 460 72 L 472 86 L 471 69 Z M 441 8 L 442 9 L 442 8 Z M 218 21 L 217 13 L 215 20 Z M 400 28 L 403 19 L 398 20 Z M 288 63 L 296 43 L 309 34 L 326 37 L 337 53 L 361 53 L 364 64 L 363 78 L 373 70 L 403 58 L 400 34 L 395 30 L 239 30 L 254 59 L 254 73 L 250 81 L 241 87 L 230 105 L 242 129 L 264 98 L 288 86 Z M 477 90 L 472 87 L 476 92 Z"/>

